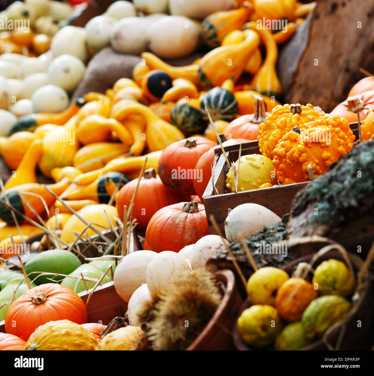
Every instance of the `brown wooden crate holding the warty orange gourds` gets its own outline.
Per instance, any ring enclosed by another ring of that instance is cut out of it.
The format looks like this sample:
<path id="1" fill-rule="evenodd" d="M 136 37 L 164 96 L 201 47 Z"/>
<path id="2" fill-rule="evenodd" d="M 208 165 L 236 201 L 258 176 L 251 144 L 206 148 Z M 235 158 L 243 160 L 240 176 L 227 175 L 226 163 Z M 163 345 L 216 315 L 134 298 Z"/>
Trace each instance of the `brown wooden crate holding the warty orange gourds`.
<path id="1" fill-rule="evenodd" d="M 351 123 L 350 127 L 357 140 L 359 138 L 357 123 Z M 230 145 L 224 149 L 230 164 L 239 159 L 239 144 Z M 225 193 L 227 162 L 220 146 L 215 147 L 214 152 L 219 155 L 214 176 L 214 186 L 218 194 L 215 194 L 213 191 L 211 179 L 203 194 L 210 233 L 215 233 L 210 223 L 210 215 L 214 216 L 220 230 L 224 233 L 224 222 L 227 215 L 232 209 L 236 208 L 236 206 L 244 203 L 250 202 L 265 206 L 265 208 L 279 215 L 279 217 L 283 217 L 284 214 L 289 213 L 296 193 L 304 188 L 306 184 L 309 184 L 309 182 L 303 182 L 281 185 L 277 188 L 262 188 L 237 193 Z M 249 141 L 242 144 L 242 156 L 248 154 L 260 154 L 258 141 Z"/>

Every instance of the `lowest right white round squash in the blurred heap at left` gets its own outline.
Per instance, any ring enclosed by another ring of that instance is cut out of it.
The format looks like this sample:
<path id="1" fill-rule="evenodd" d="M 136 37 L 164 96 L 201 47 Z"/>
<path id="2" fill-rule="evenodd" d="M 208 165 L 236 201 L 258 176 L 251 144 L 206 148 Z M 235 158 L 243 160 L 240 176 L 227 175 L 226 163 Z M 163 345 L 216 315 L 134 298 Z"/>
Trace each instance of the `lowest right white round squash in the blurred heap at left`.
<path id="1" fill-rule="evenodd" d="M 61 112 L 69 105 L 67 92 L 56 85 L 45 85 L 32 94 L 35 112 Z"/>

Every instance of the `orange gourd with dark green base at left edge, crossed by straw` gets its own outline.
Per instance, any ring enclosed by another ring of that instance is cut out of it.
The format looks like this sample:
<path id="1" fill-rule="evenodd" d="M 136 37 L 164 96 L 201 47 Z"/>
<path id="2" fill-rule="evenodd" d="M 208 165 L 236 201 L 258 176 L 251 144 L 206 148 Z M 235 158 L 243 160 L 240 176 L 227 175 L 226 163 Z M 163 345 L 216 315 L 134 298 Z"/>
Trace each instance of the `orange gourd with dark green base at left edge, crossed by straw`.
<path id="1" fill-rule="evenodd" d="M 49 184 L 47 186 L 50 188 L 50 190 L 52 190 L 53 193 L 59 196 L 66 190 L 69 185 L 69 179 L 62 179 L 61 182 Z M 44 207 L 43 201 L 40 199 L 40 197 L 29 195 L 27 194 L 27 192 L 38 194 L 39 196 L 43 197 L 44 202 L 46 202 L 47 206 L 50 206 L 55 201 L 55 197 L 53 197 L 52 194 L 50 194 L 45 189 L 45 186 L 45 184 L 38 183 L 17 185 L 0 193 L 0 199 L 3 202 L 6 202 L 5 196 L 8 197 L 8 200 L 13 208 L 17 209 L 18 212 L 25 215 L 26 217 L 35 220 L 35 214 L 30 210 L 29 206 L 27 206 L 26 202 L 21 198 L 20 192 L 23 192 L 24 197 L 39 215 L 44 215 L 46 213 L 46 209 Z M 23 217 L 21 217 L 21 215 L 19 214 L 15 214 L 15 217 L 17 218 L 19 224 L 26 222 L 26 220 L 24 220 Z M 2 205 L 0 205 L 0 219 L 11 226 L 15 225 L 11 211 Z"/>

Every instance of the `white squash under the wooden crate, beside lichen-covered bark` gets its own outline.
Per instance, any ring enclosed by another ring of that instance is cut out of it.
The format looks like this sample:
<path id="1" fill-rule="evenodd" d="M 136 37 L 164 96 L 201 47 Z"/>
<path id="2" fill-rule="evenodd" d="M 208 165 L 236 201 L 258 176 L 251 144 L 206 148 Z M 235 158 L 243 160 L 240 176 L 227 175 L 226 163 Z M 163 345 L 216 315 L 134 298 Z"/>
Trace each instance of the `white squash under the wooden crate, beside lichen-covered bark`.
<path id="1" fill-rule="evenodd" d="M 237 206 L 225 220 L 226 239 L 230 242 L 239 241 L 238 232 L 244 238 L 254 235 L 266 226 L 279 223 L 281 218 L 265 206 L 246 203 Z"/>

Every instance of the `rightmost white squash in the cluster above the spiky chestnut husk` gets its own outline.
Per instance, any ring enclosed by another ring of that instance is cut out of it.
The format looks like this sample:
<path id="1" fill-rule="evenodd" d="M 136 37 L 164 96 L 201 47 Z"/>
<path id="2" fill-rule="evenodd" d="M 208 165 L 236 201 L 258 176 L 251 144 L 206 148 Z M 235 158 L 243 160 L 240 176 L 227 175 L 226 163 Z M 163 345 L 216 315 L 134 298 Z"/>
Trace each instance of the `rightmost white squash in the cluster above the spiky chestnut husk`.
<path id="1" fill-rule="evenodd" d="M 223 241 L 227 245 L 229 244 L 227 240 L 223 239 Z M 195 243 L 191 253 L 190 261 L 192 270 L 205 267 L 205 264 L 210 258 L 220 252 L 226 251 L 226 246 L 223 241 L 218 235 L 206 235 L 199 239 Z"/>

